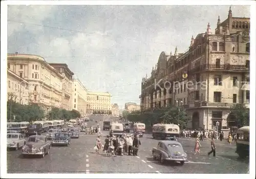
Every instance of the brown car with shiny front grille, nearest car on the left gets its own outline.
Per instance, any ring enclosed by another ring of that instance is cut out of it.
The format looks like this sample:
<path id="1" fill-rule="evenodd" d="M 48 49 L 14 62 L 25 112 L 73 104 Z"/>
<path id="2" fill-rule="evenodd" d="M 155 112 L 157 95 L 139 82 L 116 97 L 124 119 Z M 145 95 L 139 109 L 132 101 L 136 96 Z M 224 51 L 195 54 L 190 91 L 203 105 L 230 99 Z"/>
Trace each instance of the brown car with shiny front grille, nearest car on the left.
<path id="1" fill-rule="evenodd" d="M 42 158 L 50 152 L 51 141 L 46 136 L 30 136 L 22 148 L 23 156 L 40 155 Z"/>

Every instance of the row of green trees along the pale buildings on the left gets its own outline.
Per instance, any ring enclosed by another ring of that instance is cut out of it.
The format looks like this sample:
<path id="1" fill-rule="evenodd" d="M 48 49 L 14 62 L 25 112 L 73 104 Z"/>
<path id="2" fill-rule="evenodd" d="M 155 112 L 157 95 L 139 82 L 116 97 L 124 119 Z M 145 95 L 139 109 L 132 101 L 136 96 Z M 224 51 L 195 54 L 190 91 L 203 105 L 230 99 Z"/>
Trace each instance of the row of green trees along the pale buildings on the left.
<path id="1" fill-rule="evenodd" d="M 81 117 L 79 111 L 52 108 L 49 113 L 45 113 L 44 108 L 37 104 L 29 102 L 28 105 L 15 102 L 16 96 L 9 93 L 7 101 L 7 119 L 12 122 L 21 121 L 40 121 L 42 119 L 49 120 L 70 120 Z"/>

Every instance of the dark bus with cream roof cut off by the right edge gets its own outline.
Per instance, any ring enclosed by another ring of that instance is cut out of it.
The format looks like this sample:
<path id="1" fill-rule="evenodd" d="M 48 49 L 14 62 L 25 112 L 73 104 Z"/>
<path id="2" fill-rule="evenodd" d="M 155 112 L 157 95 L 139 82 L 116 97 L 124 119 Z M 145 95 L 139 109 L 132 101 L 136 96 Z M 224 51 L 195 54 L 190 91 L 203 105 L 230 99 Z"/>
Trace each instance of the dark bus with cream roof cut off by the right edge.
<path id="1" fill-rule="evenodd" d="M 240 158 L 246 158 L 249 156 L 249 137 L 250 137 L 250 127 L 244 126 L 237 130 L 237 150 L 236 153 Z"/>

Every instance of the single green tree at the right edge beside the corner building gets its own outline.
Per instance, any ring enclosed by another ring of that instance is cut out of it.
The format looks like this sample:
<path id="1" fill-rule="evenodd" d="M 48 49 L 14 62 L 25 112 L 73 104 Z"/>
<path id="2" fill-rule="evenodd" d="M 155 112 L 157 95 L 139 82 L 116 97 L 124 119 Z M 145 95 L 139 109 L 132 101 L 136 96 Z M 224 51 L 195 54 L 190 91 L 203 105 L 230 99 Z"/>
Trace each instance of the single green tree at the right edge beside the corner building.
<path id="1" fill-rule="evenodd" d="M 234 104 L 230 113 L 234 115 L 238 122 L 238 127 L 248 126 L 250 121 L 250 109 L 243 103 Z"/>

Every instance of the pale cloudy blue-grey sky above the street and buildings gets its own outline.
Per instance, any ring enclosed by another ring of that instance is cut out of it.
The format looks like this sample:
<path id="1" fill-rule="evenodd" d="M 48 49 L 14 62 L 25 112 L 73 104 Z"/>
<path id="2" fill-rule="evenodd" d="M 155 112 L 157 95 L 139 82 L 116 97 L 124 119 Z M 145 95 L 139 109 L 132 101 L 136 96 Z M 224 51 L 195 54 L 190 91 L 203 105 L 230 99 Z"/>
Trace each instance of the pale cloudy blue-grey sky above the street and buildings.
<path id="1" fill-rule="evenodd" d="M 109 92 L 124 108 L 140 103 L 142 77 L 161 52 L 188 50 L 191 36 L 224 21 L 229 6 L 8 6 L 8 53 L 67 63 L 89 91 Z M 250 17 L 249 6 L 231 6 Z"/>

